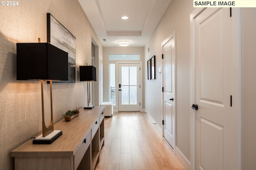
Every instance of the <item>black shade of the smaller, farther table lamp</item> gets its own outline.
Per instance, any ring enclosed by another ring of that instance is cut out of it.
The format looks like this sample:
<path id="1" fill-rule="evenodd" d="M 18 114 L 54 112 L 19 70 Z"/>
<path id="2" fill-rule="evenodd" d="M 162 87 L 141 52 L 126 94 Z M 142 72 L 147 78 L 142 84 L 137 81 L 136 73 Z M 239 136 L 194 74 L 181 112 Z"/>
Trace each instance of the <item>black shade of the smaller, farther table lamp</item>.
<path id="1" fill-rule="evenodd" d="M 96 68 L 94 66 L 79 66 L 80 82 L 96 81 Z"/>

